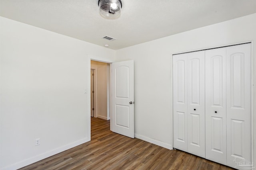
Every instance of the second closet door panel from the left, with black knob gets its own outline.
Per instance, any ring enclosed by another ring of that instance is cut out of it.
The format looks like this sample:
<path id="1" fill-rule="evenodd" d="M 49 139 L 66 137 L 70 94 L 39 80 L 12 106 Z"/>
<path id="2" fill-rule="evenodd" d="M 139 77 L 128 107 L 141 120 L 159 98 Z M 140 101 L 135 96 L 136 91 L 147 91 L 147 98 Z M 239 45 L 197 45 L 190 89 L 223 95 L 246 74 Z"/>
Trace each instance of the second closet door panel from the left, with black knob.
<path id="1" fill-rule="evenodd" d="M 205 158 L 204 53 L 187 54 L 188 152 Z"/>

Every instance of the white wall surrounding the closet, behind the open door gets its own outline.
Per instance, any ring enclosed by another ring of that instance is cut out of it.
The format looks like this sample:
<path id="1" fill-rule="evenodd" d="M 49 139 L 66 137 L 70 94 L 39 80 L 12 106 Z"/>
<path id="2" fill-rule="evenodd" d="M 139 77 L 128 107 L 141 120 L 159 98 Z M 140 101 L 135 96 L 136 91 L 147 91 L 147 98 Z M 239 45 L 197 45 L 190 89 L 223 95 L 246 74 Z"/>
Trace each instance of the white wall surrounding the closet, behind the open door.
<path id="1" fill-rule="evenodd" d="M 172 28 L 170 27 L 170 29 Z M 171 147 L 172 54 L 250 40 L 254 41 L 253 78 L 255 84 L 256 14 L 116 51 L 118 61 L 134 60 L 135 137 L 163 147 Z M 255 86 L 253 95 L 253 104 L 256 106 Z M 256 125 L 255 118 L 256 108 L 254 108 L 254 125 Z M 256 137 L 256 129 L 254 136 Z M 254 144 L 256 143 L 254 142 Z M 254 151 L 254 153 L 256 152 Z M 254 162 L 256 161 L 254 160 Z"/>

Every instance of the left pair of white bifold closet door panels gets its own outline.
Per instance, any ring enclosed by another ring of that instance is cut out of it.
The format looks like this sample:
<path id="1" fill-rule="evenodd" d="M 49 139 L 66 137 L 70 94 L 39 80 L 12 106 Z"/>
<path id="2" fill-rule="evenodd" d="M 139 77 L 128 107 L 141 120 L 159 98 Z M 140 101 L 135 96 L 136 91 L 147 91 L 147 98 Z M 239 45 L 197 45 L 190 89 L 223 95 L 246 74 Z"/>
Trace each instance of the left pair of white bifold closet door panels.
<path id="1" fill-rule="evenodd" d="M 174 147 L 205 156 L 204 51 L 173 57 Z"/>

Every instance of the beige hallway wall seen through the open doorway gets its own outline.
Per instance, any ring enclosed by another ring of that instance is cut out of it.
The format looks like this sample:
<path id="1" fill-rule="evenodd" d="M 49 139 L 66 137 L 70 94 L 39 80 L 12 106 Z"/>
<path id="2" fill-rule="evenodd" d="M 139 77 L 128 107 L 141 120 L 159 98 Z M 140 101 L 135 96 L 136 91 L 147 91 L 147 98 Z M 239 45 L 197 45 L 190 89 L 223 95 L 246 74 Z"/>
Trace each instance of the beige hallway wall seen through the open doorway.
<path id="1" fill-rule="evenodd" d="M 109 79 L 110 79 L 110 64 L 98 61 L 91 61 L 91 68 L 95 70 L 95 103 L 96 117 L 109 120 Z"/>

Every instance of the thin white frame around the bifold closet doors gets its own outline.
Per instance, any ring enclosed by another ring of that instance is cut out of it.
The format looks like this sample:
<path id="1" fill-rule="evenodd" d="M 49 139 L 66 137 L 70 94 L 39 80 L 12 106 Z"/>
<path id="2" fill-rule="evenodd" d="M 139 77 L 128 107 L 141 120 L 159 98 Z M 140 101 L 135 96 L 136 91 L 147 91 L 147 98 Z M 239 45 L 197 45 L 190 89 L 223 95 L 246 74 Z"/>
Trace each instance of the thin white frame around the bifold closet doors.
<path id="1" fill-rule="evenodd" d="M 190 53 L 190 52 L 195 52 L 195 51 L 202 51 L 202 50 L 209 50 L 209 49 L 216 49 L 216 48 L 222 48 L 222 47 L 228 47 L 228 46 L 233 46 L 233 45 L 240 45 L 240 44 L 245 44 L 245 43 L 251 43 L 251 149 L 252 149 L 252 161 L 254 162 L 254 166 L 256 166 L 256 156 L 254 156 L 254 153 L 256 154 L 256 149 L 254 150 L 254 131 L 256 132 L 256 126 L 254 126 L 254 116 L 253 116 L 253 47 L 254 47 L 254 43 L 253 41 L 243 41 L 243 42 L 239 42 L 239 43 L 231 43 L 231 44 L 226 44 L 226 45 L 219 45 L 219 46 L 214 46 L 214 47 L 207 47 L 207 48 L 202 48 L 202 49 L 195 49 L 195 50 L 190 50 L 190 51 L 183 51 L 183 52 L 178 52 L 178 53 L 172 53 L 171 54 L 171 66 L 173 68 L 173 55 L 178 55 L 178 54 L 182 54 L 182 53 Z M 171 92 L 173 94 L 173 69 L 171 69 Z M 173 108 L 173 97 L 171 98 L 171 107 Z M 174 142 L 174 136 L 173 136 L 173 109 L 172 109 L 172 113 L 171 113 L 171 122 L 172 122 L 172 126 L 171 126 L 171 150 L 174 149 L 173 147 L 173 142 Z M 256 135 L 255 135 L 256 136 Z M 255 141 L 256 143 L 256 141 Z"/>

